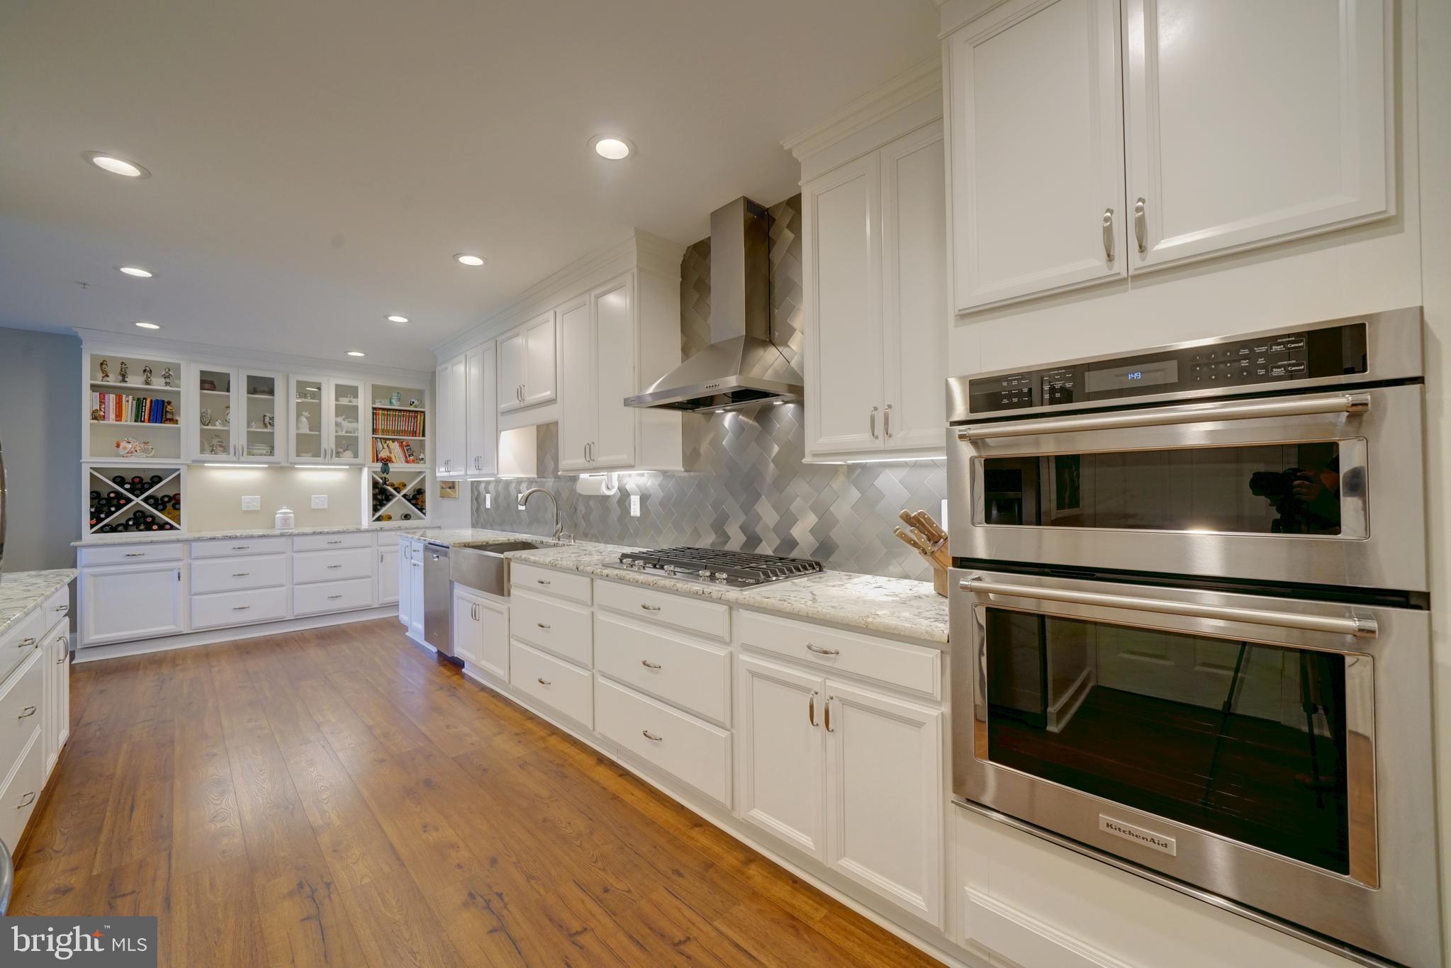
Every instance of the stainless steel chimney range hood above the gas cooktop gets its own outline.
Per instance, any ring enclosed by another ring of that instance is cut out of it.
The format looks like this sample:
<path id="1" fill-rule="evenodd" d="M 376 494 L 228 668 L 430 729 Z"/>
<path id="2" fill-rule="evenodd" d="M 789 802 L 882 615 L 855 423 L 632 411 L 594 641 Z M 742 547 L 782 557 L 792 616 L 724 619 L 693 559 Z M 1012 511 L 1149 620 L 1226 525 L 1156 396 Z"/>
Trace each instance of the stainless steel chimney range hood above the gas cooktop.
<path id="1" fill-rule="evenodd" d="M 740 197 L 711 212 L 711 340 L 625 406 L 704 411 L 801 399 L 801 374 L 770 341 L 770 229 Z"/>

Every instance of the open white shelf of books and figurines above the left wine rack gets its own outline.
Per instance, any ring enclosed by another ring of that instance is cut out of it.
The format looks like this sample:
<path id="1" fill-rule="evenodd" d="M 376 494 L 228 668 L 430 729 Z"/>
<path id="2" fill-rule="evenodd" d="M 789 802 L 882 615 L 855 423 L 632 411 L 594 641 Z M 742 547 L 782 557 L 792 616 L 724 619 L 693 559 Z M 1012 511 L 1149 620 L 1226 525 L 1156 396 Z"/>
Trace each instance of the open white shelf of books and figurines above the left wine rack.
<path id="1" fill-rule="evenodd" d="M 183 460 L 180 360 L 91 353 L 86 401 L 86 460 Z"/>

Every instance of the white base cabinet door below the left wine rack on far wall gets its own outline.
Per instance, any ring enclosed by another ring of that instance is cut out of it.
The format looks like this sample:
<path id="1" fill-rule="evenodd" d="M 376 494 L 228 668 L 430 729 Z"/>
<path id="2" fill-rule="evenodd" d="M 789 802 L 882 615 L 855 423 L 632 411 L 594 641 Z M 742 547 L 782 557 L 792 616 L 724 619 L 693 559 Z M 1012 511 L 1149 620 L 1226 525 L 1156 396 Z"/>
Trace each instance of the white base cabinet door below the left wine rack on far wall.
<path id="1" fill-rule="evenodd" d="M 87 646 L 186 631 L 180 562 L 81 569 L 80 631 Z"/>

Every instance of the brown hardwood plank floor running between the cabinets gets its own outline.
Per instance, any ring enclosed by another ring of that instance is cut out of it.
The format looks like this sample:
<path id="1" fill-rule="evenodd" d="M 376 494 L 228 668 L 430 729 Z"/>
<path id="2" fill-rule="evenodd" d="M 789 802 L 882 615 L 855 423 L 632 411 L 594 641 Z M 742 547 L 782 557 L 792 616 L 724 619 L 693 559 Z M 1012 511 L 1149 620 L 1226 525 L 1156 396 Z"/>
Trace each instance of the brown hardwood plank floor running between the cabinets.
<path id="1" fill-rule="evenodd" d="M 161 965 L 934 965 L 393 620 L 71 673 L 12 914 Z"/>

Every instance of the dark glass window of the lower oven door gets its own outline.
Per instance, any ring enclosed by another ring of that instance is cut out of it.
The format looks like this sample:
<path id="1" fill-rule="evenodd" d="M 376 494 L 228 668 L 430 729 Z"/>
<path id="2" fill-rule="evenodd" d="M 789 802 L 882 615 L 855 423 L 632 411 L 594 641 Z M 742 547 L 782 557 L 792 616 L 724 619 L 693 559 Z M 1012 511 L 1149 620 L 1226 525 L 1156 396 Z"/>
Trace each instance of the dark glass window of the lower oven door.
<path id="1" fill-rule="evenodd" d="M 979 759 L 1374 884 L 1370 656 L 977 611 Z"/>

